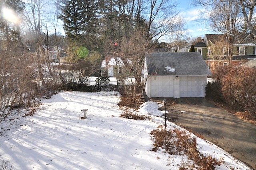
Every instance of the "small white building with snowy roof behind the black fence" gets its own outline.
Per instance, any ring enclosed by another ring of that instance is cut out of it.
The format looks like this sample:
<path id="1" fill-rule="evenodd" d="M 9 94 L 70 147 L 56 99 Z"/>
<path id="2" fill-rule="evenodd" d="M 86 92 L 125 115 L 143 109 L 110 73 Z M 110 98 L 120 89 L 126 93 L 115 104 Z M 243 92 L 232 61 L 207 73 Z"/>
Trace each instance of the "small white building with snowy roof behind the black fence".
<path id="1" fill-rule="evenodd" d="M 120 57 L 112 57 L 102 61 L 100 73 L 102 77 L 117 77 L 118 74 L 123 74 L 124 62 Z"/>

